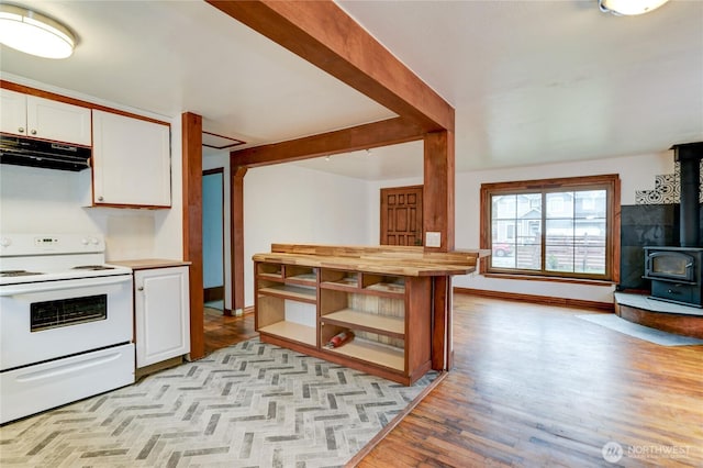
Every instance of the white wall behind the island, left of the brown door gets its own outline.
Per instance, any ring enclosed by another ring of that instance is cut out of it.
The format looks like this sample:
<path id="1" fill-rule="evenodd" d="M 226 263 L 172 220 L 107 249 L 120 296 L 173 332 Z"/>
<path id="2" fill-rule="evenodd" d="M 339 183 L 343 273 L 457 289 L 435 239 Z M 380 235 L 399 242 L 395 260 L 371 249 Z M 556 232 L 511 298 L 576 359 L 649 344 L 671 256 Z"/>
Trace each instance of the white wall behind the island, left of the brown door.
<path id="1" fill-rule="evenodd" d="M 245 304 L 254 304 L 254 254 L 270 252 L 275 243 L 369 244 L 367 213 L 373 203 L 358 179 L 290 164 L 249 169 L 244 177 Z"/>

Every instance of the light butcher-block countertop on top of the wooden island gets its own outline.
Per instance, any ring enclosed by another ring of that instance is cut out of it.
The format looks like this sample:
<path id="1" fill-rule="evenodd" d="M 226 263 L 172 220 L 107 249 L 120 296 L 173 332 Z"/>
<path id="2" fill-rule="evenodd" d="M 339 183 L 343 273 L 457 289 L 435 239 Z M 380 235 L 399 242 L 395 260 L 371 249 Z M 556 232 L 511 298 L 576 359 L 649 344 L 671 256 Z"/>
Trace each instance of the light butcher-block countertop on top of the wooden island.
<path id="1" fill-rule="evenodd" d="M 423 247 L 272 244 L 255 261 L 280 263 L 399 276 L 449 276 L 476 271 L 490 250 L 425 252 Z"/>

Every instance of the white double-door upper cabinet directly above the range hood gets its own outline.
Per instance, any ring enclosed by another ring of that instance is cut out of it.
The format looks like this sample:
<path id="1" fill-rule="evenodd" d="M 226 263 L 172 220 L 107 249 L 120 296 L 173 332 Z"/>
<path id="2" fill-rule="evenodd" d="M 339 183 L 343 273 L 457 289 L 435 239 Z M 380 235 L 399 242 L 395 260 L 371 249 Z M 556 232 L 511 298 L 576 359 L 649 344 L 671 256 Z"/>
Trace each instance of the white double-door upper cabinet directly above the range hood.
<path id="1" fill-rule="evenodd" d="M 90 146 L 90 109 L 0 89 L 0 131 Z"/>

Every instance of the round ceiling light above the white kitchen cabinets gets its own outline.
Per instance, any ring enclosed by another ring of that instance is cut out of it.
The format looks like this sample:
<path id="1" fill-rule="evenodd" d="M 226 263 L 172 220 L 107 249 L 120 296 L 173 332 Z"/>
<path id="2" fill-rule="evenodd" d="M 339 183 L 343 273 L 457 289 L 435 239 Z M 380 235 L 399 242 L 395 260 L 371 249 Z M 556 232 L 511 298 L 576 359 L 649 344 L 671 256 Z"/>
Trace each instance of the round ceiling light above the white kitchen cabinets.
<path id="1" fill-rule="evenodd" d="M 76 37 L 56 20 L 13 4 L 0 4 L 0 43 L 25 54 L 66 58 Z"/>

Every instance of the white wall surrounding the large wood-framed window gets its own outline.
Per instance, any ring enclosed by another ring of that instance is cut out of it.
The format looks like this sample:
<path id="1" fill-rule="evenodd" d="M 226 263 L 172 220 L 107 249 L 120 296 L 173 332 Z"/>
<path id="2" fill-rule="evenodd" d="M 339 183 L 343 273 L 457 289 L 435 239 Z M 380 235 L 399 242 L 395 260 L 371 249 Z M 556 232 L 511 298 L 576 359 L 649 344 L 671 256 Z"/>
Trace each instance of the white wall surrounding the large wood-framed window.
<path id="1" fill-rule="evenodd" d="M 456 176 L 456 248 L 479 246 L 480 188 L 483 182 L 547 179 L 557 177 L 620 174 L 621 204 L 634 204 L 636 190 L 655 186 L 655 176 L 673 174 L 671 152 L 629 157 L 613 157 L 580 163 L 516 167 L 500 170 L 461 172 Z M 587 301 L 612 302 L 614 287 L 570 285 L 551 281 L 525 281 L 486 278 L 480 275 L 460 276 L 455 287 L 503 291 L 521 294 L 571 298 Z"/>

